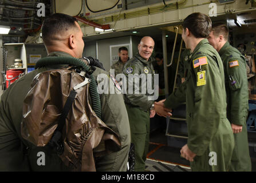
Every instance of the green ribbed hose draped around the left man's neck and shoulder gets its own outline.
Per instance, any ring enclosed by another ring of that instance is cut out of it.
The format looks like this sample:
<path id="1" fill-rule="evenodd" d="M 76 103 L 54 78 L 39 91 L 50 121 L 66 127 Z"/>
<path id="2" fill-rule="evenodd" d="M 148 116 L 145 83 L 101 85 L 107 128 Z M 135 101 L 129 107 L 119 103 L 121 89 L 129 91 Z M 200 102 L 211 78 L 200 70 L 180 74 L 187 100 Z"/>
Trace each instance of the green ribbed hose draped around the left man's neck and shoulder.
<path id="1" fill-rule="evenodd" d="M 82 67 L 82 69 L 89 75 L 89 78 L 91 79 L 89 92 L 90 97 L 92 98 L 92 109 L 96 113 L 97 117 L 101 119 L 100 95 L 97 92 L 97 83 L 92 75 L 93 71 L 91 67 L 86 65 L 86 63 L 80 59 L 74 57 L 45 57 L 37 61 L 35 69 L 49 65 L 74 65 Z"/>

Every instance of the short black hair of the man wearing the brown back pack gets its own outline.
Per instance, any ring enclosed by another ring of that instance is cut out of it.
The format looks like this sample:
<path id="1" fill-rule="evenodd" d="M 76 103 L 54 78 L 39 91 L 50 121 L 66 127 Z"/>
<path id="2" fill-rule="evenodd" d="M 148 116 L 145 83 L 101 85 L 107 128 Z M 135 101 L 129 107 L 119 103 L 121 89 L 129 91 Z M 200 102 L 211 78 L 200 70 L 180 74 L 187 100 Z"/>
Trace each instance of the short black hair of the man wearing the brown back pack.
<path id="1" fill-rule="evenodd" d="M 45 45 L 52 45 L 52 41 L 56 40 L 56 35 L 62 31 L 77 27 L 77 19 L 62 13 L 55 13 L 46 18 L 42 25 L 42 39 Z"/>

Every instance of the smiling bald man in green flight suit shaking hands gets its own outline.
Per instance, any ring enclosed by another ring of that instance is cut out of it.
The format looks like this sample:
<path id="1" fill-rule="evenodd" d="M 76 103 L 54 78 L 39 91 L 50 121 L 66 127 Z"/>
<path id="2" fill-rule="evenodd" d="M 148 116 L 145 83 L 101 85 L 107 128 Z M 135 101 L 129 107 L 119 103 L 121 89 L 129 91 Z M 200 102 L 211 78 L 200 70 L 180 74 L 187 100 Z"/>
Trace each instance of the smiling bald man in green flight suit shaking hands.
<path id="1" fill-rule="evenodd" d="M 145 170 L 145 160 L 147 158 L 149 146 L 149 118 L 155 116 L 155 101 L 149 100 L 150 94 L 141 93 L 141 82 L 132 81 L 133 89 L 139 87 L 139 94 L 128 93 L 129 75 L 151 74 L 153 86 L 153 66 L 151 63 L 151 54 L 155 42 L 151 37 L 143 37 L 138 45 L 138 53 L 125 64 L 123 73 L 127 77 L 127 85 L 124 85 L 127 94 L 124 94 L 125 106 L 129 116 L 131 128 L 131 142 L 135 145 L 135 171 L 143 172 Z M 129 86 L 130 87 L 130 86 Z M 159 106 L 162 108 L 162 106 Z M 158 108 L 157 108 L 158 109 Z M 164 110 L 163 115 L 170 116 L 171 110 Z"/>

